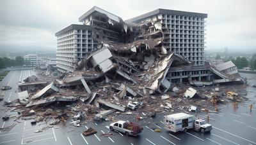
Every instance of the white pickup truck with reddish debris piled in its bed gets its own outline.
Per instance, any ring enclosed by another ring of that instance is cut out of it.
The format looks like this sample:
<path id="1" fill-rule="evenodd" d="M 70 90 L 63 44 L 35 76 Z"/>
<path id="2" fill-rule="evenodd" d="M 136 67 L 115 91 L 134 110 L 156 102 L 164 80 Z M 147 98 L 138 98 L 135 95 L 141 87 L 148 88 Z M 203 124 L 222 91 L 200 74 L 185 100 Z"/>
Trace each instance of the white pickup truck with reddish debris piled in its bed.
<path id="1" fill-rule="evenodd" d="M 118 131 L 118 132 L 122 132 L 125 135 L 133 135 L 136 136 L 138 135 L 142 130 L 143 127 L 141 127 L 140 125 L 136 124 L 136 123 L 132 123 L 132 122 L 126 122 L 126 121 L 116 121 L 114 123 L 111 123 L 109 125 L 109 129 L 111 131 Z"/>

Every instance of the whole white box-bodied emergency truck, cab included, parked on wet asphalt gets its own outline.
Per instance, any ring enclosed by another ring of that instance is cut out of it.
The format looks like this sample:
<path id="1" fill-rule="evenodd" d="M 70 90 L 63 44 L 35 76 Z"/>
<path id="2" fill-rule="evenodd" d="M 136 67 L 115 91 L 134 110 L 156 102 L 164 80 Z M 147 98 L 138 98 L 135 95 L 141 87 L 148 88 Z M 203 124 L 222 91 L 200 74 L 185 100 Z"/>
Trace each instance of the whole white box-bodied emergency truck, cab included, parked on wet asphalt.
<path id="1" fill-rule="evenodd" d="M 172 132 L 187 132 L 193 128 L 202 133 L 211 132 L 212 125 L 205 123 L 205 120 L 195 119 L 194 115 L 186 113 L 176 113 L 164 116 L 164 128 Z"/>

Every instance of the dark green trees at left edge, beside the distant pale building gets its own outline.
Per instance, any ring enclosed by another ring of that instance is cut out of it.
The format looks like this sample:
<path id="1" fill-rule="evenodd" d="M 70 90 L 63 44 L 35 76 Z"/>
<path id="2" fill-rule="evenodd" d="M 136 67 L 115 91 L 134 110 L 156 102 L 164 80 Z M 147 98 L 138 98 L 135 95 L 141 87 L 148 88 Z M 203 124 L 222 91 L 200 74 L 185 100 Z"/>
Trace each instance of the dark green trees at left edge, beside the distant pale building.
<path id="1" fill-rule="evenodd" d="M 15 59 L 9 59 L 8 57 L 0 57 L 0 69 L 12 66 L 23 66 L 24 63 L 24 58 L 20 56 L 15 57 Z"/>

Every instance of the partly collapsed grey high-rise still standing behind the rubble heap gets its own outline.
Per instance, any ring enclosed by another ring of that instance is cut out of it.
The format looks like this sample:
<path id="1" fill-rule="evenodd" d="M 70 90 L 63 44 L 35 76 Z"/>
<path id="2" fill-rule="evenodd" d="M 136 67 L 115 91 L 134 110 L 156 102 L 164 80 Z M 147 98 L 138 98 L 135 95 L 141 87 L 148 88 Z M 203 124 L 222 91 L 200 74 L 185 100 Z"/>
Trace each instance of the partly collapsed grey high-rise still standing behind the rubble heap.
<path id="1" fill-rule="evenodd" d="M 227 74 L 204 61 L 205 18 L 204 13 L 157 9 L 124 21 L 94 6 L 79 17 L 83 25 L 72 24 L 56 33 L 58 72 L 93 68 L 108 76 L 104 73 L 117 68 L 117 74 L 135 83 L 134 72 L 150 69 L 173 53 L 159 77 L 163 90 L 181 82 L 196 86 L 243 82 L 238 73 Z"/>

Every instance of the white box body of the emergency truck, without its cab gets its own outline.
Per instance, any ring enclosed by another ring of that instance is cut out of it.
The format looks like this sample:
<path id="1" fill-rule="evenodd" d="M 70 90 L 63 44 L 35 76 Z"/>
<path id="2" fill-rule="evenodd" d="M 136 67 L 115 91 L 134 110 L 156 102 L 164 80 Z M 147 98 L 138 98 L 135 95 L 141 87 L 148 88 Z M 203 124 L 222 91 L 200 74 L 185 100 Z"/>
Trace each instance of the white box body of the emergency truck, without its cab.
<path id="1" fill-rule="evenodd" d="M 186 113 L 176 113 L 164 116 L 164 128 L 172 132 L 187 132 L 193 128 L 195 116 Z"/>

